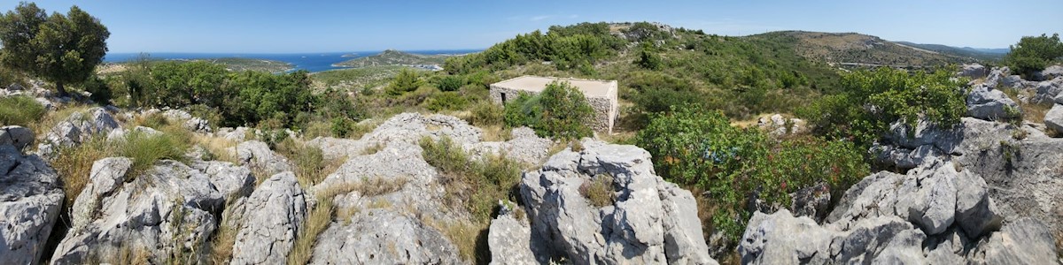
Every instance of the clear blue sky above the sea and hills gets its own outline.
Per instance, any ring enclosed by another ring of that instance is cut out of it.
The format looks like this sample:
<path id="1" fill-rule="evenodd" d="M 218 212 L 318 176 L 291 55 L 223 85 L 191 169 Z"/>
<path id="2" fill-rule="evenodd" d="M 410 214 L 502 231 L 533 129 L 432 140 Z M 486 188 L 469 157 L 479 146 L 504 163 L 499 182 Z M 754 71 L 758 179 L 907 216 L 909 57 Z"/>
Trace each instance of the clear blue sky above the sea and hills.
<path id="1" fill-rule="evenodd" d="M 720 35 L 859 32 L 889 40 L 1007 48 L 1063 33 L 1063 1 L 250 1 L 47 0 L 109 30 L 112 52 L 343 52 L 482 49 L 584 21 L 658 21 Z M 3 1 L 11 10 L 15 1 Z"/>

